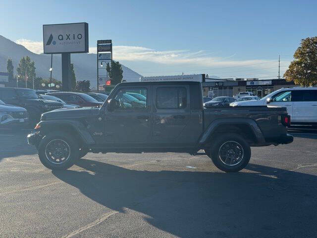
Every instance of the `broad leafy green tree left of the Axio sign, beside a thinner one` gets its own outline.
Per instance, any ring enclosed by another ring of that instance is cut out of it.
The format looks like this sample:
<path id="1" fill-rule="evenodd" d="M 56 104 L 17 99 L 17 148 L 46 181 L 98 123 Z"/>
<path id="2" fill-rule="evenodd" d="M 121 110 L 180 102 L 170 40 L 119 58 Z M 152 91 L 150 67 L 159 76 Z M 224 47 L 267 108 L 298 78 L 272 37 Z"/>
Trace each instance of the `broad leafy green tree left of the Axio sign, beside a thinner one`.
<path id="1" fill-rule="evenodd" d="M 19 62 L 19 66 L 16 69 L 16 71 L 20 75 L 19 85 L 21 84 L 21 82 L 24 82 L 25 87 L 25 77 L 27 77 L 27 87 L 32 88 L 32 81 L 36 78 L 35 69 L 35 63 L 34 61 L 31 61 L 30 57 L 22 57 Z"/>

